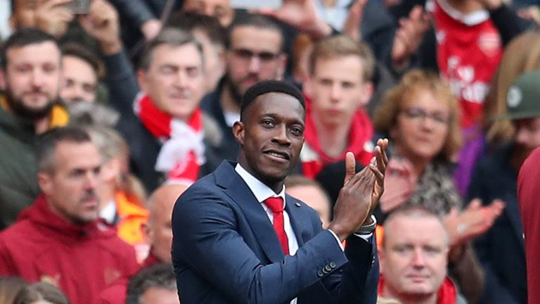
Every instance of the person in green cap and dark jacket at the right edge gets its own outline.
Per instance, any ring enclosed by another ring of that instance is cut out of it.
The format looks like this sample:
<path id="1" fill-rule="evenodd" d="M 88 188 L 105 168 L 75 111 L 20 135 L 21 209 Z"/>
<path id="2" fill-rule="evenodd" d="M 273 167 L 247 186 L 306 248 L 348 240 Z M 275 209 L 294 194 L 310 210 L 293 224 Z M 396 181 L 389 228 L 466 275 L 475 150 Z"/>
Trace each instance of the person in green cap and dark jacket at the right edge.
<path id="1" fill-rule="evenodd" d="M 484 204 L 501 198 L 505 202 L 503 213 L 493 227 L 475 241 L 478 259 L 485 272 L 484 292 L 480 303 L 527 303 L 527 271 L 524 238 L 527 234 L 525 218 L 520 217 L 518 206 L 518 172 L 534 148 L 540 146 L 540 71 L 518 77 L 508 89 L 508 113 L 498 119 L 508 119 L 515 128 L 509 143 L 481 158 L 470 182 L 469 198 L 481 198 Z M 537 170 L 535 168 L 535 170 Z M 523 172 L 524 170 L 522 170 Z M 525 172 L 527 172 L 525 170 Z M 523 178 L 535 181 L 530 175 Z M 496 178 L 494 178 L 496 177 Z M 534 184 L 537 203 L 537 184 Z M 525 234 L 524 233 L 525 228 Z M 532 232 L 536 233 L 536 232 Z M 508 257 L 512 257 L 508 260 Z M 534 260 L 532 256 L 527 257 Z M 535 272 L 537 268 L 531 268 Z M 534 284 L 530 284 L 534 289 Z M 529 303 L 538 303 L 531 300 Z"/>

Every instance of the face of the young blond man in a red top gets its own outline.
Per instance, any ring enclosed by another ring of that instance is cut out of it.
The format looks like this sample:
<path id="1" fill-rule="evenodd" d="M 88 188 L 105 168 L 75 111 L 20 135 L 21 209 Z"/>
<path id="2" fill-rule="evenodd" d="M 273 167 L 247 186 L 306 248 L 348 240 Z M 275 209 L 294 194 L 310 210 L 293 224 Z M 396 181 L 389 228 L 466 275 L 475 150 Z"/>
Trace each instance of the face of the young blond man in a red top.
<path id="1" fill-rule="evenodd" d="M 371 98 L 371 82 L 364 82 L 358 56 L 320 58 L 307 84 L 314 120 L 326 127 L 349 124 L 356 110 Z"/>

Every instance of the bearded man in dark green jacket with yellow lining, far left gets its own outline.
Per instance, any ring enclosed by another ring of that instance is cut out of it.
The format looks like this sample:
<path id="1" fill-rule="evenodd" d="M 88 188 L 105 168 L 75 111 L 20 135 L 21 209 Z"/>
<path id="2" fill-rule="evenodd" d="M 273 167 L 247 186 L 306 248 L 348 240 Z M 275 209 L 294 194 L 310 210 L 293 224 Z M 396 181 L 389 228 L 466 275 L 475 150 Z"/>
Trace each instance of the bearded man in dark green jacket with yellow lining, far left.
<path id="1" fill-rule="evenodd" d="M 35 29 L 15 32 L 0 53 L 0 229 L 39 194 L 34 159 L 37 134 L 68 123 L 58 102 L 60 48 Z"/>

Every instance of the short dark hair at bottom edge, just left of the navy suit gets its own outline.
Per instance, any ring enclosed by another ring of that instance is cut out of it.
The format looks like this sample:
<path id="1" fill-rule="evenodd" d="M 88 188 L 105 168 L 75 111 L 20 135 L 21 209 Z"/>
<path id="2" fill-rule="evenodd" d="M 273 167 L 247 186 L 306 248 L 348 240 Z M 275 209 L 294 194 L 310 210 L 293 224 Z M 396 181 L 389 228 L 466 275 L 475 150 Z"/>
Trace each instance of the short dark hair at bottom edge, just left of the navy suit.
<path id="1" fill-rule="evenodd" d="M 152 287 L 176 291 L 176 277 L 172 264 L 160 263 L 143 268 L 127 284 L 126 304 L 149 304 L 141 302 L 141 296 Z"/>

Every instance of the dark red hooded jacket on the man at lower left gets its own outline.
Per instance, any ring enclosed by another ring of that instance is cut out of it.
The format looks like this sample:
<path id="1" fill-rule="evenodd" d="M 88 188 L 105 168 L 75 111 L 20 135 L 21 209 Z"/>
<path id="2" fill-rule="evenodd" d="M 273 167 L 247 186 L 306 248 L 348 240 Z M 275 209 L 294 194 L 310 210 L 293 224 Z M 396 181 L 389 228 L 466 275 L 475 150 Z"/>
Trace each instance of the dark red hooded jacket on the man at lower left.
<path id="1" fill-rule="evenodd" d="M 100 222 L 75 225 L 39 196 L 0 233 L 0 275 L 58 286 L 72 304 L 94 303 L 119 277 L 139 270 L 134 248 Z"/>

